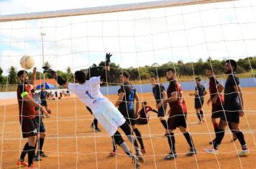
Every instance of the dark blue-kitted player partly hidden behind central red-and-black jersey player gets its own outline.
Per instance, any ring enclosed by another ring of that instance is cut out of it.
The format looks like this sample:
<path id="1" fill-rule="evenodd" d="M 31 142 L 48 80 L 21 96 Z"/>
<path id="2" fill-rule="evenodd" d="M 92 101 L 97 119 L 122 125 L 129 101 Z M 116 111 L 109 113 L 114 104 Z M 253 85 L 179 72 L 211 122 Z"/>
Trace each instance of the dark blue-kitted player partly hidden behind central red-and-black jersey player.
<path id="1" fill-rule="evenodd" d="M 165 127 L 165 135 L 168 134 L 167 122 L 165 120 L 165 112 L 167 104 L 163 104 L 163 100 L 166 99 L 166 92 L 161 84 L 157 84 L 157 78 L 155 76 L 150 77 L 150 83 L 152 84 L 152 93 L 155 97 L 156 107 L 158 109 L 157 117 L 159 117 L 160 122 L 163 127 Z"/>

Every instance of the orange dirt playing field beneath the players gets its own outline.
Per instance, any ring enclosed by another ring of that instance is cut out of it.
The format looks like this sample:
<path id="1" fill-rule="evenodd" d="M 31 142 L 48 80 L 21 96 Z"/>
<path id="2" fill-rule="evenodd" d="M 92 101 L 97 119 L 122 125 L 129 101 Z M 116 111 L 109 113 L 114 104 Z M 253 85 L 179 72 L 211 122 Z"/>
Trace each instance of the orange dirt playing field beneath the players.
<path id="1" fill-rule="evenodd" d="M 245 158 L 237 156 L 236 150 L 241 150 L 241 147 L 238 141 L 231 143 L 232 136 L 229 131 L 226 132 L 219 148 L 219 155 L 202 153 L 201 149 L 208 148 L 209 141 L 214 138 L 211 106 L 204 104 L 206 122 L 198 125 L 196 112 L 193 109 L 193 97 L 189 97 L 189 91 L 186 91 L 188 129 L 198 154 L 193 157 L 185 156 L 188 144 L 182 133 L 175 130 L 178 158 L 163 160 L 169 151 L 168 140 L 162 137 L 165 130 L 157 115 L 151 112 L 150 124 L 139 126 L 147 148 L 145 163 L 142 163 L 141 168 L 256 168 L 256 88 L 243 88 L 242 91 L 246 116 L 241 118 L 240 128 L 244 131 L 244 137 L 252 155 Z M 107 97 L 113 102 L 117 99 L 116 95 Z M 206 96 L 206 100 L 208 98 L 209 95 Z M 155 107 L 155 100 L 151 93 L 140 95 L 140 100 L 145 100 L 148 105 Z M 40 168 L 133 168 L 131 160 L 120 148 L 116 157 L 108 157 L 112 149 L 111 138 L 104 130 L 93 132 L 89 127 L 93 117 L 77 98 L 50 101 L 48 104 L 52 110 L 52 116 L 44 119 L 47 139 L 43 150 L 49 157 L 44 158 L 40 163 L 35 162 L 36 166 Z M 0 168 L 19 168 L 15 163 L 27 140 L 22 138 L 20 132 L 18 105 L 1 105 L 0 115 Z M 102 129 L 101 125 L 99 127 Z M 132 149 L 127 137 L 124 136 L 124 140 Z"/>

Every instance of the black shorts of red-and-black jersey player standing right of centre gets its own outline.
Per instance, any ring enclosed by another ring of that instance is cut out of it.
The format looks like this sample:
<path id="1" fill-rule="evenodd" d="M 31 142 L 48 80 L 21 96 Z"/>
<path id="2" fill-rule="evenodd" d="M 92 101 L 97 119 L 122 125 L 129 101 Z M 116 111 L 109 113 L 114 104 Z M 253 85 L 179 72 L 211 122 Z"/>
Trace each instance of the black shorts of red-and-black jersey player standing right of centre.
<path id="1" fill-rule="evenodd" d="M 187 115 L 173 115 L 168 118 L 168 129 L 175 130 L 177 127 L 187 127 Z"/>

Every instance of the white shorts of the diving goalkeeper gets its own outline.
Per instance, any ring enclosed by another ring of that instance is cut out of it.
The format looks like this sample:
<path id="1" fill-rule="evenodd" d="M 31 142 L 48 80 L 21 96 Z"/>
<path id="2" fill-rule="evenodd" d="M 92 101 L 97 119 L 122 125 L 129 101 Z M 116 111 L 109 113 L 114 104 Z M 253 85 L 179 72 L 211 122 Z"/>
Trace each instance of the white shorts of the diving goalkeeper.
<path id="1" fill-rule="evenodd" d="M 114 135 L 117 128 L 126 121 L 112 102 L 101 102 L 101 105 L 92 112 L 110 136 Z"/>

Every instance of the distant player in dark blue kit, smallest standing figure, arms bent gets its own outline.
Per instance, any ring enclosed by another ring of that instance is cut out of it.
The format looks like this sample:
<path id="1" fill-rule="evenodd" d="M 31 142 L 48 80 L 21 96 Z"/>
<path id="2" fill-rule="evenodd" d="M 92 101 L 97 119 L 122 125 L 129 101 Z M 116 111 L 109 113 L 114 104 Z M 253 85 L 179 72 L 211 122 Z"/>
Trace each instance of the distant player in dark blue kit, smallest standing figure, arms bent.
<path id="1" fill-rule="evenodd" d="M 206 88 L 201 84 L 200 77 L 196 77 L 196 88 L 195 92 L 191 93 L 189 95 L 195 96 L 195 109 L 196 109 L 196 115 L 199 120 L 199 124 L 204 122 L 204 112 L 202 110 L 202 107 L 204 105 L 204 96 L 207 95 Z"/>

